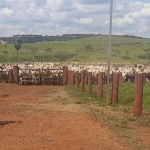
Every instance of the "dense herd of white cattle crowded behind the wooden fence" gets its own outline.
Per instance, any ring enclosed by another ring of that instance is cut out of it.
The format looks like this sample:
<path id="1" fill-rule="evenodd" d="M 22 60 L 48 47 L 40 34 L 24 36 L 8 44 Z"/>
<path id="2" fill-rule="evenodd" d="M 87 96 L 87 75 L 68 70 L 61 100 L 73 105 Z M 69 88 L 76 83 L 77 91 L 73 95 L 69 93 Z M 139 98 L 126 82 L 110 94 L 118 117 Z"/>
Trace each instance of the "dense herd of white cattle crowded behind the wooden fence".
<path id="1" fill-rule="evenodd" d="M 0 71 L 9 71 L 16 64 L 0 64 Z M 106 63 L 99 64 L 80 64 L 77 62 L 72 63 L 53 63 L 53 62 L 23 62 L 18 63 L 19 66 L 19 75 L 22 72 L 34 73 L 36 70 L 42 69 L 62 69 L 63 66 L 68 66 L 69 70 L 79 71 L 86 70 L 92 72 L 93 75 L 98 74 L 98 72 L 107 72 L 108 65 Z M 122 76 L 125 77 L 126 74 L 130 73 L 150 73 L 150 64 L 111 64 L 110 74 L 112 72 L 122 72 Z"/>

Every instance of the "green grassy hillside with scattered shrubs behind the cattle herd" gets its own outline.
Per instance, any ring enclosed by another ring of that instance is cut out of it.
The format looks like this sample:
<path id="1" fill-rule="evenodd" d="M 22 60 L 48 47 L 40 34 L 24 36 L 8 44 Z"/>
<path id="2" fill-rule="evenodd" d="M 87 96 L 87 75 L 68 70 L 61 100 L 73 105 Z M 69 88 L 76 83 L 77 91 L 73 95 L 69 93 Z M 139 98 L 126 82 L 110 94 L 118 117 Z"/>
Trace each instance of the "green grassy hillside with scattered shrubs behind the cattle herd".
<path id="1" fill-rule="evenodd" d="M 90 46 L 88 49 L 87 46 Z M 22 43 L 19 62 L 107 62 L 108 36 L 94 36 L 80 40 Z M 17 61 L 13 44 L 0 45 L 0 62 Z M 150 40 L 113 36 L 112 63 L 149 63 Z"/>

